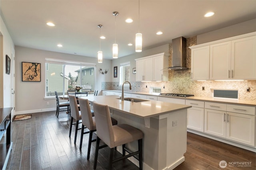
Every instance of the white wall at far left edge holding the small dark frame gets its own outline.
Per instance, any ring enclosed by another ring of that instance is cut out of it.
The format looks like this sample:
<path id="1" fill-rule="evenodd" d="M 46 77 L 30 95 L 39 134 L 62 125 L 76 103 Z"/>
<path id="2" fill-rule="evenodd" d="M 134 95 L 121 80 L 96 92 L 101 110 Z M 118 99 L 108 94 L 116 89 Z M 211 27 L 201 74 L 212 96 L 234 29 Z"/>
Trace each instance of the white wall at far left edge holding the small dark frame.
<path id="1" fill-rule="evenodd" d="M 1 45 L 1 47 L 3 47 L 0 51 L 1 51 L 1 55 L 0 57 L 2 58 L 0 61 L 0 68 L 2 69 L 1 72 L 2 74 L 0 74 L 1 76 L 1 90 L 0 93 L 2 93 L 0 96 L 0 107 L 11 107 L 11 78 L 12 78 L 12 68 L 10 69 L 10 74 L 6 74 L 6 55 L 8 55 L 11 59 L 11 54 L 12 54 L 12 48 L 14 48 L 14 43 L 12 41 L 12 38 L 10 37 L 10 34 L 6 28 L 6 25 L 4 24 L 4 21 L 0 20 L 0 32 L 3 38 L 3 44 Z M 12 64 L 12 60 L 11 60 L 11 64 Z M 12 66 L 12 65 L 11 65 Z"/>

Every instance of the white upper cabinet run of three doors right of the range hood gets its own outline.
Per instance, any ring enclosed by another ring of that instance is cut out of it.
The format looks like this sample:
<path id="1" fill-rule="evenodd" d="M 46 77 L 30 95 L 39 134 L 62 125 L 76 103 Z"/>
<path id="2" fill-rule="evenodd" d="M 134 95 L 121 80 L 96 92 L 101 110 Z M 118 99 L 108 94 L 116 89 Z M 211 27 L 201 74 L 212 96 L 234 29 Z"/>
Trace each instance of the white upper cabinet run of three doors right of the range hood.
<path id="1" fill-rule="evenodd" d="M 190 48 L 192 80 L 256 80 L 256 32 Z"/>

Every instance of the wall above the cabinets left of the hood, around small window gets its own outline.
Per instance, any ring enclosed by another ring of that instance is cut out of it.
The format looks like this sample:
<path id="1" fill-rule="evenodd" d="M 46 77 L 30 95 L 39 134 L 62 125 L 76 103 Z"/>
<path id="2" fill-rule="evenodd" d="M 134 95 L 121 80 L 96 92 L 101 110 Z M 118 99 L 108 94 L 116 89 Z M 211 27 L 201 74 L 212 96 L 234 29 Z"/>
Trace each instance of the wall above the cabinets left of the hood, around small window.
<path id="1" fill-rule="evenodd" d="M 134 51 L 135 51 L 135 49 L 134 49 Z M 111 68 L 112 82 L 119 82 L 119 79 L 120 79 L 120 76 L 119 76 L 120 63 L 126 63 L 128 61 L 130 61 L 130 72 L 131 72 L 130 81 L 135 82 L 136 81 L 136 74 L 132 74 L 132 68 L 136 68 L 135 59 L 150 56 L 150 55 L 155 55 L 155 54 L 159 54 L 159 53 L 168 53 L 169 54 L 169 44 L 162 45 L 162 46 L 155 47 L 155 48 L 148 49 L 148 50 L 142 50 L 142 52 L 140 52 L 140 53 L 127 55 L 125 57 L 120 57 L 118 59 L 113 59 L 112 60 L 112 68 Z M 118 69 L 117 78 L 114 78 L 114 66 L 117 66 L 117 69 Z"/>

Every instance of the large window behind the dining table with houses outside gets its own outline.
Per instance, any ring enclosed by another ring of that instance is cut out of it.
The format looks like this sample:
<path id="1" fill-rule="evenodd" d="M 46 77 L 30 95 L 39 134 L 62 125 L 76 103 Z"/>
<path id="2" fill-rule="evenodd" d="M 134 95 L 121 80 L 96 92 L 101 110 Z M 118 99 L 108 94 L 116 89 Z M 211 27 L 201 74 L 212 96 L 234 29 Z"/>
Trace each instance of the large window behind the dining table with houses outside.
<path id="1" fill-rule="evenodd" d="M 86 86 L 91 86 L 89 94 L 93 94 L 96 80 L 93 71 L 96 69 L 96 64 L 56 61 L 54 59 L 46 59 L 46 63 L 48 66 L 45 74 L 46 98 L 55 96 L 54 91 L 58 92 L 58 95 L 67 94 L 67 90 L 74 90 L 76 86 L 84 87 L 83 89 Z M 92 75 L 84 76 L 86 71 L 92 72 Z M 88 90 L 86 89 L 86 91 Z"/>

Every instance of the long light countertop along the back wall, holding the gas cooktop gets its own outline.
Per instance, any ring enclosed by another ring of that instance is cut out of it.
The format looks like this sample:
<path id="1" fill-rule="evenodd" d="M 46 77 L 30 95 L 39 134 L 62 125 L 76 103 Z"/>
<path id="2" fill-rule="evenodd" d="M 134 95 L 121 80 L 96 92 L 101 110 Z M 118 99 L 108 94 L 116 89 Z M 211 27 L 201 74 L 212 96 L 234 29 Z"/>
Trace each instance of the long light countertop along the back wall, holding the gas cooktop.
<path id="1" fill-rule="evenodd" d="M 118 90 L 105 90 L 105 91 L 121 92 Z M 161 96 L 161 95 L 159 95 L 160 93 L 129 92 L 129 91 L 124 91 L 124 93 L 143 94 L 143 95 L 166 97 L 166 98 L 177 98 L 177 99 L 184 99 L 184 100 L 200 100 L 203 102 L 223 102 L 225 104 L 242 104 L 242 105 L 251 105 L 251 106 L 256 107 L 256 101 L 251 101 L 251 100 L 210 98 L 210 97 L 200 97 L 200 96 L 184 98 L 184 97 L 175 97 L 175 96 Z"/>

